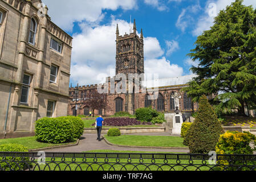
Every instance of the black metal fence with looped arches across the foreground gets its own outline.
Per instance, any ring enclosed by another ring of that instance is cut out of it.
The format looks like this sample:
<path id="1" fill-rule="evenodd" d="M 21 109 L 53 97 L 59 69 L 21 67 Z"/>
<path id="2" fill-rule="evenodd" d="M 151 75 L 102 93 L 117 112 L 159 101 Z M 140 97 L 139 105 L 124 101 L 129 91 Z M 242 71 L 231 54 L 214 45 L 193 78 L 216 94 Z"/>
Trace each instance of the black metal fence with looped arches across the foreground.
<path id="1" fill-rule="evenodd" d="M 0 171 L 255 171 L 256 155 L 0 152 Z"/>

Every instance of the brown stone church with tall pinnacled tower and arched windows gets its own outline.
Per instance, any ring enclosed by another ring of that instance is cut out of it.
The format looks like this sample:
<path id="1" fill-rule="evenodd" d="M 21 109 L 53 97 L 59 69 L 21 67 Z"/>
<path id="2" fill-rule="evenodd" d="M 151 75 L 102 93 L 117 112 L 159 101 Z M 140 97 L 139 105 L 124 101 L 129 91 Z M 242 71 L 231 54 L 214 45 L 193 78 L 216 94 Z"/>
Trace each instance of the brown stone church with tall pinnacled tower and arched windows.
<path id="1" fill-rule="evenodd" d="M 133 23 L 133 32 L 130 34 L 119 35 L 119 27 L 116 27 L 116 76 L 123 73 L 127 76 L 126 84 L 128 89 L 129 74 L 137 73 L 140 75 L 144 73 L 144 42 L 143 31 L 138 36 L 136 34 L 136 23 Z M 191 99 L 182 92 L 182 88 L 188 86 L 188 82 L 192 80 L 193 76 L 182 76 L 175 78 L 165 78 L 158 81 L 158 85 L 153 85 L 153 88 L 145 88 L 146 92 L 141 92 L 143 86 L 140 85 L 139 93 L 108 93 L 107 105 L 108 109 L 96 110 L 95 114 L 102 114 L 104 116 L 113 115 L 119 111 L 128 111 L 134 114 L 135 110 L 140 107 L 152 106 L 158 111 L 172 112 L 175 110 L 177 103 L 174 103 L 174 98 L 178 98 L 179 109 L 186 115 L 190 115 L 193 110 L 197 109 L 197 104 L 192 103 Z M 107 82 L 111 80 L 115 85 L 119 81 L 115 78 L 108 77 Z M 136 83 L 133 81 L 133 91 L 135 91 Z M 97 89 L 97 84 L 87 86 L 77 86 L 70 88 L 70 104 L 68 105 L 68 115 L 89 115 L 91 108 L 84 104 L 84 100 L 90 92 Z M 108 84 L 110 90 L 111 84 Z M 155 100 L 149 100 L 149 96 L 158 92 L 159 97 Z"/>

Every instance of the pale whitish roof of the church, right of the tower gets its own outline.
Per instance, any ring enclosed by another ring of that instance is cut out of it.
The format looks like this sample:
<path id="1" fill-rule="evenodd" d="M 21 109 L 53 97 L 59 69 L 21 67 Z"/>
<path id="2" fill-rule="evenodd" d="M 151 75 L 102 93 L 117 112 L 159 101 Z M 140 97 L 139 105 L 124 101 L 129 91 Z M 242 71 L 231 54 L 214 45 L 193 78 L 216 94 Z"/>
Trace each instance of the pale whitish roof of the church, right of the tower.
<path id="1" fill-rule="evenodd" d="M 153 87 L 162 87 L 162 86 L 174 86 L 174 85 L 185 85 L 188 84 L 188 82 L 192 81 L 192 79 L 196 77 L 196 75 L 186 75 L 181 77 L 173 77 L 173 78 L 161 78 L 159 80 L 147 80 L 144 86 L 147 86 L 147 88 L 153 88 Z"/>

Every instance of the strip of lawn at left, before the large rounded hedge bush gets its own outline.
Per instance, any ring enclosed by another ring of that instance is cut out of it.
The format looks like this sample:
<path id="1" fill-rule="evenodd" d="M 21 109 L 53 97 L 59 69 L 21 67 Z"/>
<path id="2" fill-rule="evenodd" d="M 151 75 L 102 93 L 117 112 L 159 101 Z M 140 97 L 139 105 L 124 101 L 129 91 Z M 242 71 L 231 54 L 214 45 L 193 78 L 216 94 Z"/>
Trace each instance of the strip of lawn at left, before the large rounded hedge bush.
<path id="1" fill-rule="evenodd" d="M 70 143 L 75 143 L 75 142 L 76 142 L 76 139 L 73 139 Z M 23 146 L 27 147 L 28 150 L 70 144 L 70 143 L 61 143 L 61 144 L 42 143 L 42 142 L 36 141 L 35 137 L 0 139 L 0 144 L 7 144 L 7 143 L 22 144 Z"/>

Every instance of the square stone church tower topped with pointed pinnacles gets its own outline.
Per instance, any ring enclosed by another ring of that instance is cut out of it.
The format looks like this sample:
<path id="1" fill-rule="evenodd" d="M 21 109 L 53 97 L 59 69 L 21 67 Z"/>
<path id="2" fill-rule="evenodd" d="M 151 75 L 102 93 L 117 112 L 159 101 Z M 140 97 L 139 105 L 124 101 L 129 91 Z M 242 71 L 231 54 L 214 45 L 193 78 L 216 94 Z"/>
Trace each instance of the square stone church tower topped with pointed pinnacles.
<path id="1" fill-rule="evenodd" d="M 136 22 L 133 23 L 133 32 L 119 36 L 119 27 L 116 27 L 116 75 L 124 73 L 144 73 L 144 44 L 143 32 L 140 37 L 136 34 Z"/>

